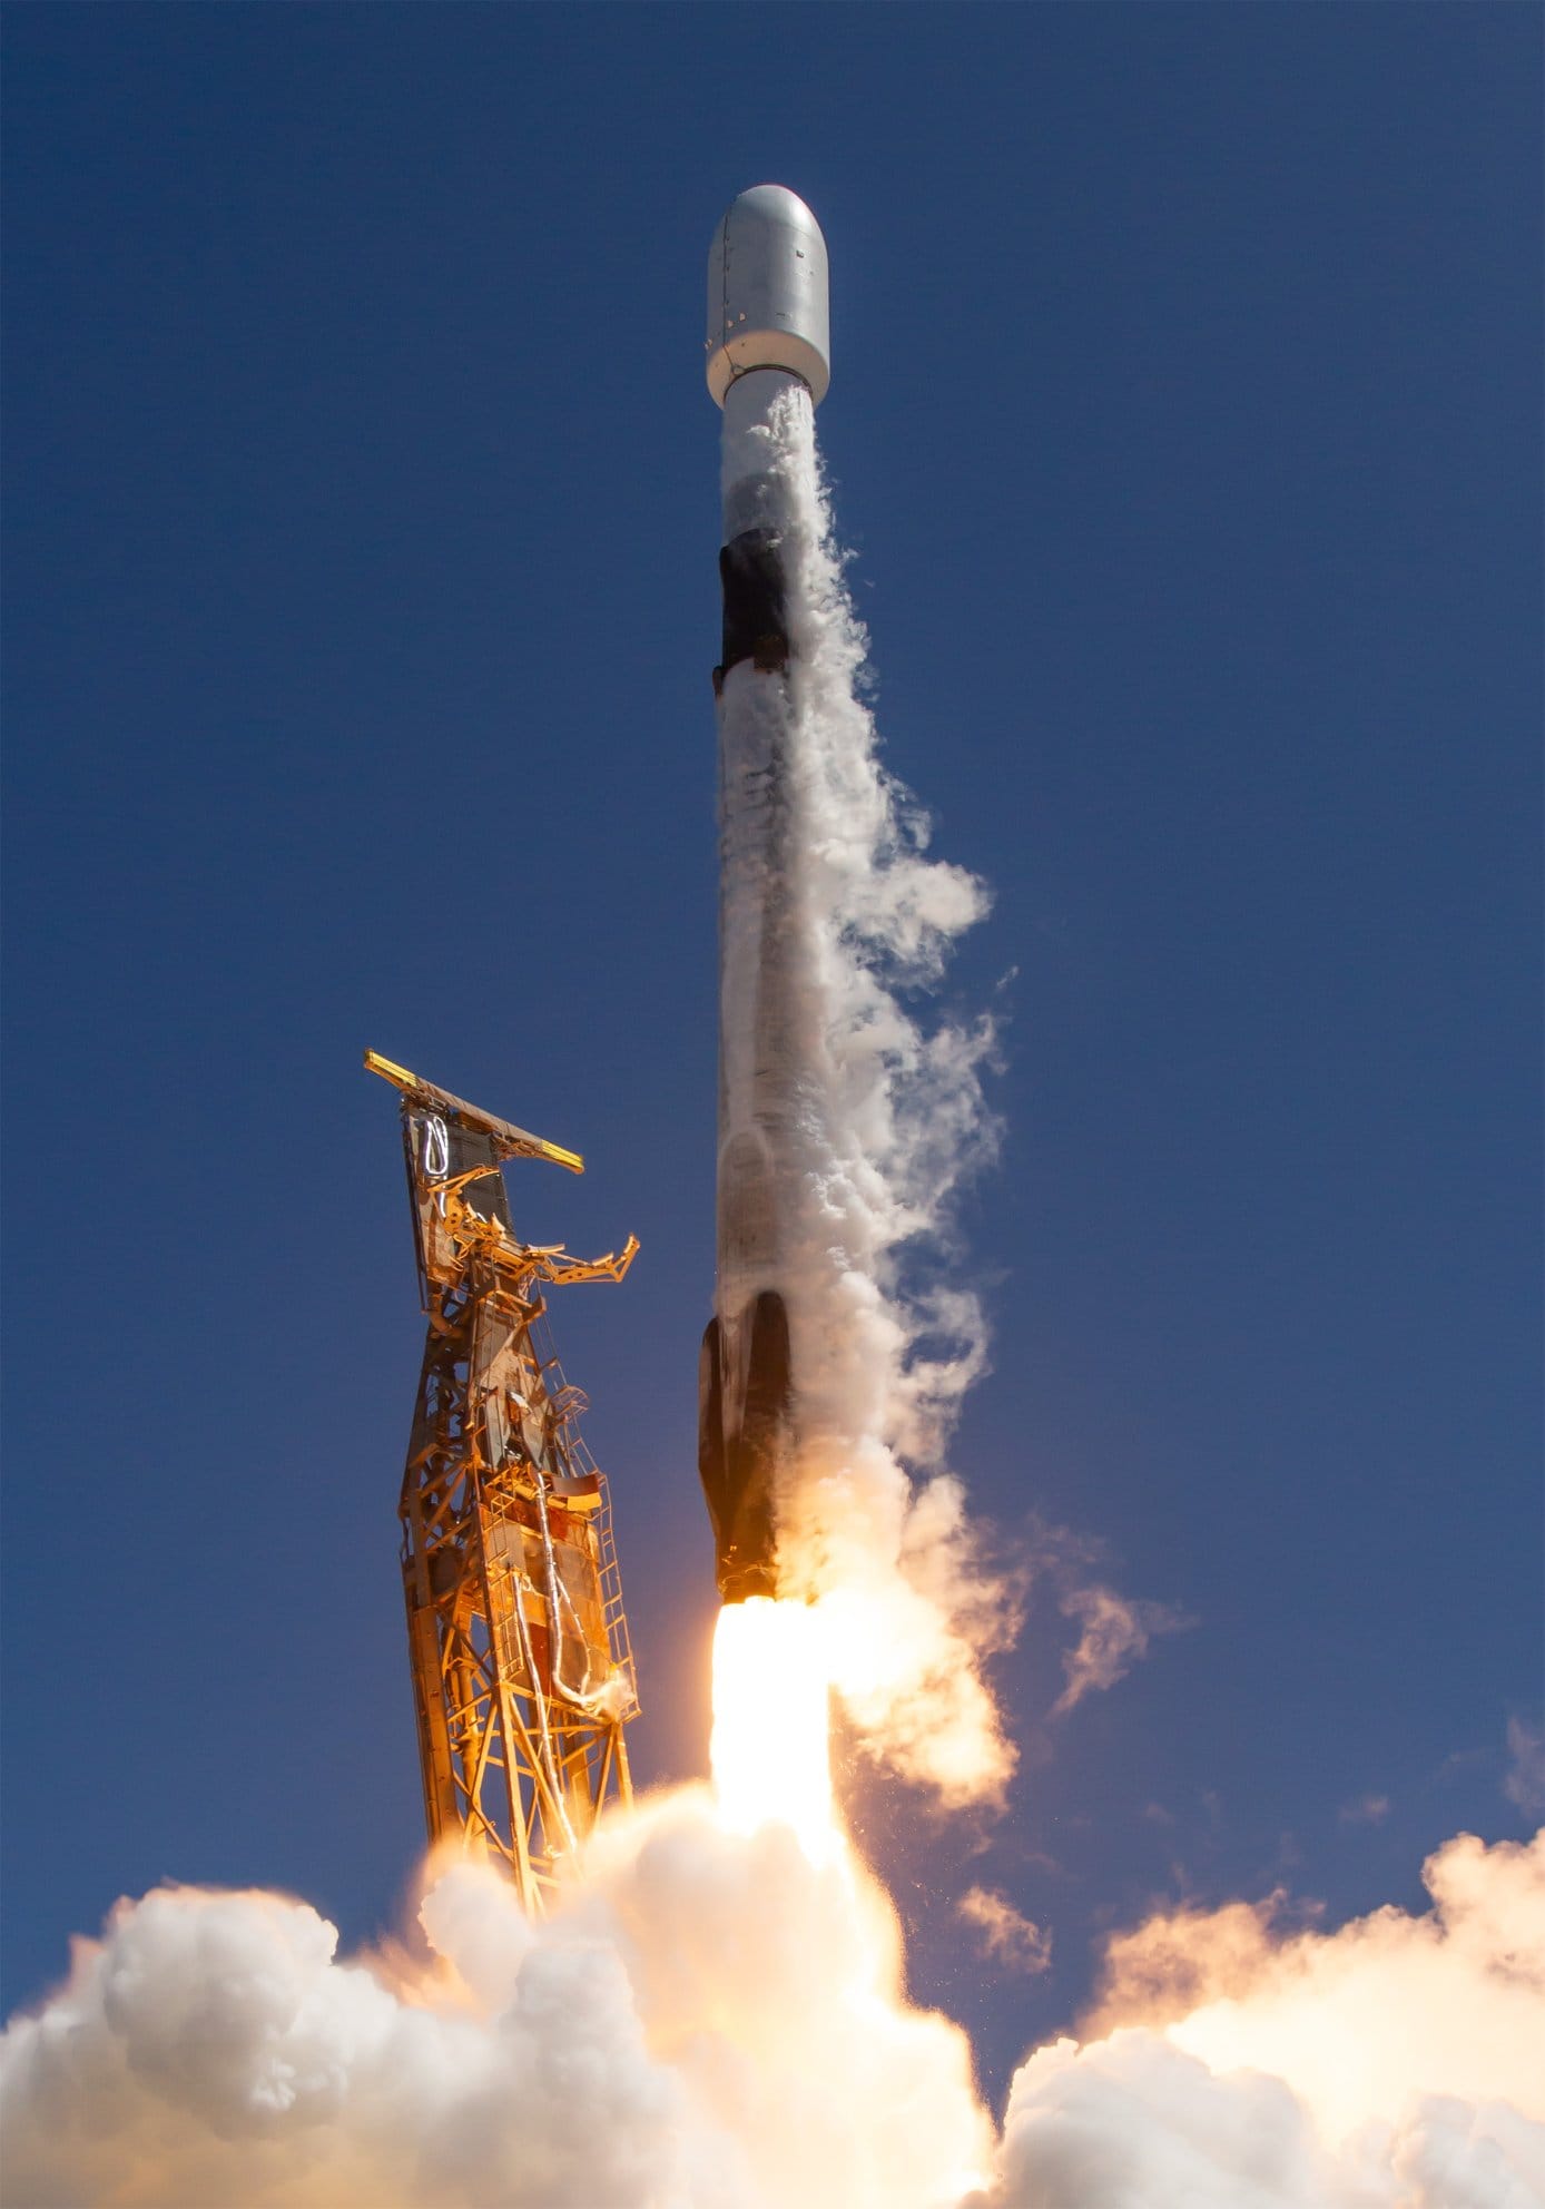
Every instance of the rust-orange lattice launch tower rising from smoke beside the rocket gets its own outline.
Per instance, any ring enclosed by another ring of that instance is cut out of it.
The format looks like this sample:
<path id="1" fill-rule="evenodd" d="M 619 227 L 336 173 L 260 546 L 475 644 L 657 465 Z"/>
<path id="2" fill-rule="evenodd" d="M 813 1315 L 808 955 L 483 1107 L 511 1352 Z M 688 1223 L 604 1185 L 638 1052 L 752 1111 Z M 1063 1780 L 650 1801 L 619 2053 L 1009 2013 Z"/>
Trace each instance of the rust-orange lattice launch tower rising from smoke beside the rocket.
<path id="1" fill-rule="evenodd" d="M 501 1162 L 574 1151 L 364 1054 L 402 1091 L 428 1314 L 402 1476 L 402 1584 L 430 1842 L 508 1867 L 541 1911 L 556 1860 L 629 1800 L 638 1710 L 607 1482 L 547 1336 L 545 1283 L 620 1281 L 618 1255 L 514 1239 Z"/>

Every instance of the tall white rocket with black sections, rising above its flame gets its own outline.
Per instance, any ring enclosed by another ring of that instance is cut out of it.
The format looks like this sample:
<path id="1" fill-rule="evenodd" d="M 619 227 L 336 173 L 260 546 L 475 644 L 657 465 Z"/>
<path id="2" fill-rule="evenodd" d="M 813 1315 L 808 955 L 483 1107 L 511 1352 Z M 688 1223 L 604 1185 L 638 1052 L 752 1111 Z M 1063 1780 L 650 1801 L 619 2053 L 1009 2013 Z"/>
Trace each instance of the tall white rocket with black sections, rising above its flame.
<path id="1" fill-rule="evenodd" d="M 708 252 L 708 391 L 724 409 L 724 634 L 720 722 L 720 1144 L 717 1275 L 697 1378 L 697 1471 L 726 1604 L 777 1595 L 779 1476 L 797 1447 L 790 1228 L 795 1113 L 808 1058 L 790 886 L 786 488 L 768 422 L 797 384 L 830 382 L 821 228 L 795 192 L 759 183 Z"/>

